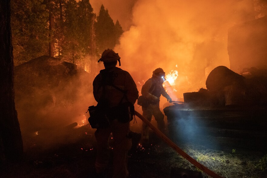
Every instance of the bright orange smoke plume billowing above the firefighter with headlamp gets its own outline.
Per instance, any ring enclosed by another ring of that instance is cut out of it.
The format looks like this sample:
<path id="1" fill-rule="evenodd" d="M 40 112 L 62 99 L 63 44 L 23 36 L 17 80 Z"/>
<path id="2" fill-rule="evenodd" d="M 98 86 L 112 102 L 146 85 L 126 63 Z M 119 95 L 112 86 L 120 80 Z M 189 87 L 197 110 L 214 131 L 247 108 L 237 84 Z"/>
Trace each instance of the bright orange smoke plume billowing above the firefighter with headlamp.
<path id="1" fill-rule="evenodd" d="M 133 25 L 115 47 L 122 69 L 130 72 L 139 90 L 158 67 L 166 74 L 178 71 L 177 97 L 206 88 L 208 72 L 218 65 L 229 67 L 227 30 L 248 20 L 249 2 L 137 1 Z"/>

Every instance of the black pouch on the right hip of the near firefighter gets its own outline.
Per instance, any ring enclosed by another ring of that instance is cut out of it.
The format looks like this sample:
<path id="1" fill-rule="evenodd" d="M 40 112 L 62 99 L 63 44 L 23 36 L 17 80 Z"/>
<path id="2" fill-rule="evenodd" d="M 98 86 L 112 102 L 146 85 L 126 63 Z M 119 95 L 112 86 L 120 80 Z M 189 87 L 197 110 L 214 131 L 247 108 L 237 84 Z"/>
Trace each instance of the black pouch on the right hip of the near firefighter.
<path id="1" fill-rule="evenodd" d="M 119 106 L 111 108 L 111 117 L 118 119 L 121 123 L 127 123 L 134 118 L 134 104 L 131 102 L 121 103 Z"/>

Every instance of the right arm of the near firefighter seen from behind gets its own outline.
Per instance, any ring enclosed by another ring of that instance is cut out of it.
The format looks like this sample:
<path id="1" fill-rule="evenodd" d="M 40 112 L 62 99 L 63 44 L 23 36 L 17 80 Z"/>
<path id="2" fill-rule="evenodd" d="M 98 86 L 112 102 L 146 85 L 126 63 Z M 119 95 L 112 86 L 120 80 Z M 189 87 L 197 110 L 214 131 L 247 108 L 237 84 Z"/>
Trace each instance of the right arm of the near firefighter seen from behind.
<path id="1" fill-rule="evenodd" d="M 134 104 L 139 96 L 139 92 L 134 79 L 128 72 L 125 79 L 125 87 L 127 90 L 127 99 Z"/>

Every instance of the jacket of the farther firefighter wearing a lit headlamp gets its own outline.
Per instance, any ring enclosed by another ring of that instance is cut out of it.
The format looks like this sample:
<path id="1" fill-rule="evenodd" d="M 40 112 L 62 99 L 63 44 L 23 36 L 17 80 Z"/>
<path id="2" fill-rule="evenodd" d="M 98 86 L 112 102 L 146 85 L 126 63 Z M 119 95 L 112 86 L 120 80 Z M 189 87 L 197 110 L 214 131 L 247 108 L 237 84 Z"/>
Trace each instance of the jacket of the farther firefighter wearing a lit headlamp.
<path id="1" fill-rule="evenodd" d="M 148 79 L 142 86 L 141 94 L 148 99 L 150 103 L 159 103 L 160 96 L 170 98 L 160 82 L 155 77 Z"/>

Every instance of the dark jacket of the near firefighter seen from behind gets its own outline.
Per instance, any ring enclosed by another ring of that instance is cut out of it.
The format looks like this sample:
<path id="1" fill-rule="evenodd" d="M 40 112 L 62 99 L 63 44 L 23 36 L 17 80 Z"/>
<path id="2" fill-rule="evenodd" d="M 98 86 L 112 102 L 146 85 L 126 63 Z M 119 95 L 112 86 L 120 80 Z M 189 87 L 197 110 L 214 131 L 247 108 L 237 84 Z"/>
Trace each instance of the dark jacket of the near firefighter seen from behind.
<path id="1" fill-rule="evenodd" d="M 93 81 L 95 100 L 99 102 L 100 99 L 104 99 L 109 107 L 118 106 L 127 100 L 134 104 L 139 96 L 138 93 L 129 72 L 118 67 L 100 70 Z"/>

